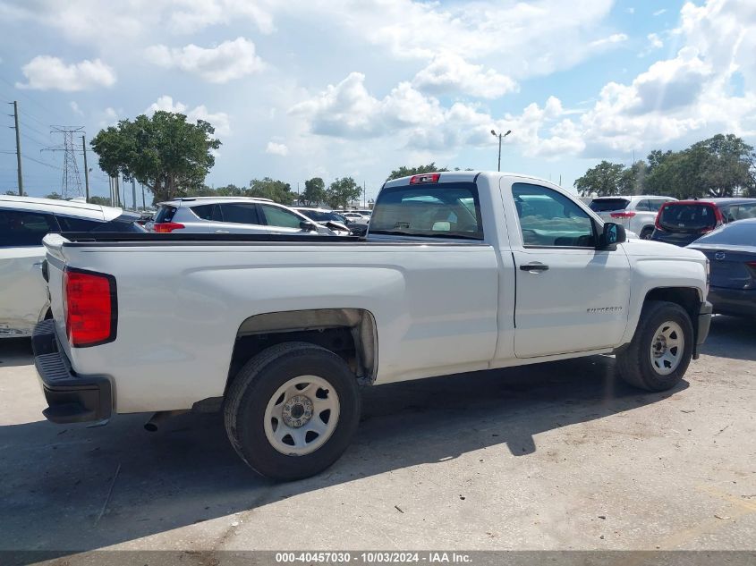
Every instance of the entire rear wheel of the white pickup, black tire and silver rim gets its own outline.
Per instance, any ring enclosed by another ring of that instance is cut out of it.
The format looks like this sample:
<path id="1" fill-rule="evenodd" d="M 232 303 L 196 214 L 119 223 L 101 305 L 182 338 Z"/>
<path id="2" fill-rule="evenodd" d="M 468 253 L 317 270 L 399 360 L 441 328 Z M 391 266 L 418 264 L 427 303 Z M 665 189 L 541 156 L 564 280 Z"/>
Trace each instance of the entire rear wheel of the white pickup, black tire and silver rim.
<path id="1" fill-rule="evenodd" d="M 235 376 L 224 419 L 234 450 L 251 469 L 285 481 L 310 477 L 352 441 L 360 420 L 357 380 L 332 351 L 278 344 Z"/>

